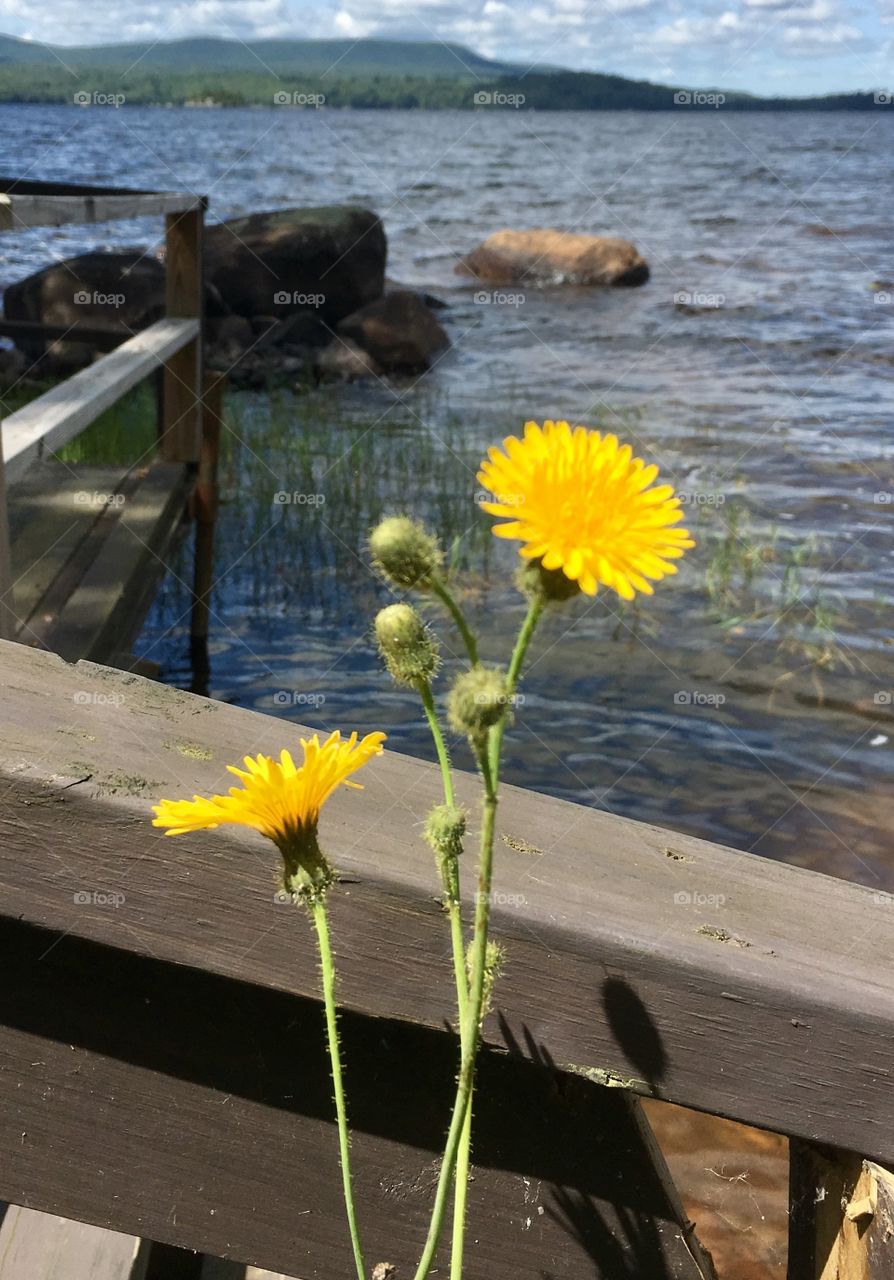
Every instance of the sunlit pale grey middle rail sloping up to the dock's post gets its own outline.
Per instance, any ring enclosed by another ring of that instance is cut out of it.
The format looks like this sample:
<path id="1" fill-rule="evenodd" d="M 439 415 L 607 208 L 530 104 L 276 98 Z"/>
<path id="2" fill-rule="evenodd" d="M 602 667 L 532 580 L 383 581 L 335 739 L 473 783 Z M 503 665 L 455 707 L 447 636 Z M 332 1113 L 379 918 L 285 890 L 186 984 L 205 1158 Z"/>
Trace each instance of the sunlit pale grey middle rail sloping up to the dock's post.
<path id="1" fill-rule="evenodd" d="M 24 475 L 36 458 L 60 449 L 79 435 L 159 364 L 193 346 L 197 333 L 197 320 L 159 320 L 88 369 L 10 413 L 0 424 L 6 483 Z"/>

